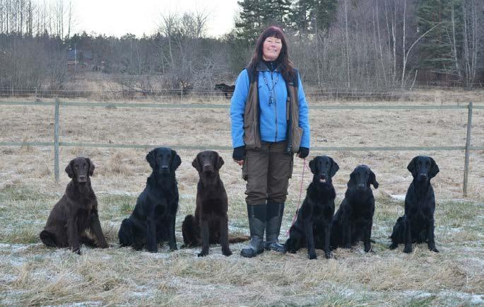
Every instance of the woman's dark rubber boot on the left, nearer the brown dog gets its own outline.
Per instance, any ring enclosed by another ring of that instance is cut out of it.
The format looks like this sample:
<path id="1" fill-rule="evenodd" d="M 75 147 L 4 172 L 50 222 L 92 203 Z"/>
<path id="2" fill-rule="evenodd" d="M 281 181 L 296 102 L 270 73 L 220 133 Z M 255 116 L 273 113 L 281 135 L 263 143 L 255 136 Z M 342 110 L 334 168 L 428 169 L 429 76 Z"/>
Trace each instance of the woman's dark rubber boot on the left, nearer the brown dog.
<path id="1" fill-rule="evenodd" d="M 266 228 L 266 204 L 247 204 L 250 243 L 240 250 L 243 257 L 255 257 L 264 252 L 264 228 Z"/>

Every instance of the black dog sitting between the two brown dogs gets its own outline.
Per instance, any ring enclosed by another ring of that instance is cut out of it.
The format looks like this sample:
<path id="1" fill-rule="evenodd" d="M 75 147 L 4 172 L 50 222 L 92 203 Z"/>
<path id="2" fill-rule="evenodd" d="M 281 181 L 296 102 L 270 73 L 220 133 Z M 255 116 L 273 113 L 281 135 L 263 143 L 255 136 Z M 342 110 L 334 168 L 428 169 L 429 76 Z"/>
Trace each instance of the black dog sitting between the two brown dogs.
<path id="1" fill-rule="evenodd" d="M 119 228 L 119 244 L 136 250 L 158 252 L 158 243 L 168 239 L 170 250 L 177 249 L 175 216 L 178 209 L 178 186 L 175 170 L 182 160 L 172 149 L 160 147 L 146 155 L 153 172 L 139 195 L 133 213 Z"/>

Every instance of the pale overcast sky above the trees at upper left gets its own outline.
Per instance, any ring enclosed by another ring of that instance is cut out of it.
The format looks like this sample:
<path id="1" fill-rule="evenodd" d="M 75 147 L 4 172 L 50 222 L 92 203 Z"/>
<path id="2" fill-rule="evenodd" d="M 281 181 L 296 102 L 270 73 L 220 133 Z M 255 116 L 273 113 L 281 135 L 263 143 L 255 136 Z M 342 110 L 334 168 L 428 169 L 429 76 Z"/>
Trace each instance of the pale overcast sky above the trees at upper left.
<path id="1" fill-rule="evenodd" d="M 75 32 L 121 36 L 150 35 L 160 24 L 163 13 L 206 11 L 207 34 L 219 36 L 234 26 L 239 10 L 237 0 L 73 0 Z"/>

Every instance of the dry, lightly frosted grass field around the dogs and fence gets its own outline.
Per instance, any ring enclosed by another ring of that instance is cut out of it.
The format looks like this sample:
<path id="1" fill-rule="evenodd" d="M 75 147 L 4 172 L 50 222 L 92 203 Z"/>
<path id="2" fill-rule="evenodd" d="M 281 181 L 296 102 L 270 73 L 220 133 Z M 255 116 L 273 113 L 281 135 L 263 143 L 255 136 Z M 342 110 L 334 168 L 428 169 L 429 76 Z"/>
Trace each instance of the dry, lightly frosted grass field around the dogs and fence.
<path id="1" fill-rule="evenodd" d="M 481 98 L 482 100 L 482 98 Z M 199 102 L 198 100 L 195 101 Z M 218 103 L 223 103 L 222 100 Z M 315 102 L 314 104 L 334 102 Z M 341 103 L 341 102 L 338 102 Z M 354 104 L 355 102 L 351 102 Z M 382 103 L 384 102 L 375 102 Z M 402 102 L 404 103 L 404 102 Z M 426 102 L 432 104 L 431 102 Z M 416 103 L 409 103 L 415 105 Z M 0 141 L 51 141 L 53 111 L 46 107 L 1 106 Z M 311 111 L 312 146 L 456 146 L 465 143 L 466 110 L 450 111 Z M 227 110 L 152 110 L 61 108 L 61 141 L 133 144 L 217 144 L 230 146 Z M 90 127 L 90 131 L 85 131 Z M 473 145 L 483 146 L 484 112 L 473 115 Z M 280 255 L 266 252 L 254 259 L 239 255 L 244 243 L 231 245 L 225 257 L 220 245 L 198 258 L 199 249 L 159 253 L 119 248 L 117 231 L 129 215 L 149 175 L 148 149 L 62 147 L 61 170 L 76 156 L 93 159 L 92 178 L 100 219 L 110 248 L 45 248 L 38 239 L 50 209 L 68 179 L 54 183 L 53 151 L 44 147 L 0 148 L 0 306 L 8 305 L 143 305 L 143 306 L 482 306 L 484 304 L 484 152 L 471 154 L 469 196 L 461 194 L 464 153 L 312 152 L 332 156 L 340 166 L 334 178 L 339 204 L 349 173 L 369 165 L 380 187 L 374 190 L 376 211 L 373 253 L 362 245 L 336 250 L 334 259 L 307 260 L 307 250 Z M 179 151 L 177 170 L 181 222 L 194 212 L 196 151 Z M 230 233 L 248 234 L 244 181 L 231 152 L 222 151 L 220 170 L 229 197 Z M 435 158 L 436 244 L 389 250 L 391 227 L 403 214 L 411 174 L 406 166 L 417 154 Z M 299 203 L 303 163 L 295 161 L 281 239 Z M 305 169 L 303 190 L 311 180 Z M 302 195 L 304 197 L 304 195 Z"/>

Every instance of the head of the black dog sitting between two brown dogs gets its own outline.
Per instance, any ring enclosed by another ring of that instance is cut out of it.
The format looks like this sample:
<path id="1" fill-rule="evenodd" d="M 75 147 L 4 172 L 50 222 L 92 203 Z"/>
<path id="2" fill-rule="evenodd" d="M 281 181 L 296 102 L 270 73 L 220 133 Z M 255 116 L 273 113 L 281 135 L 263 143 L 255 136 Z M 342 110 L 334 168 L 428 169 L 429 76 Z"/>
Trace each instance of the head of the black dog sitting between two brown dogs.
<path id="1" fill-rule="evenodd" d="M 146 161 L 150 163 L 153 173 L 158 175 L 173 175 L 182 164 L 177 152 L 167 147 L 153 149 L 146 155 Z"/>

